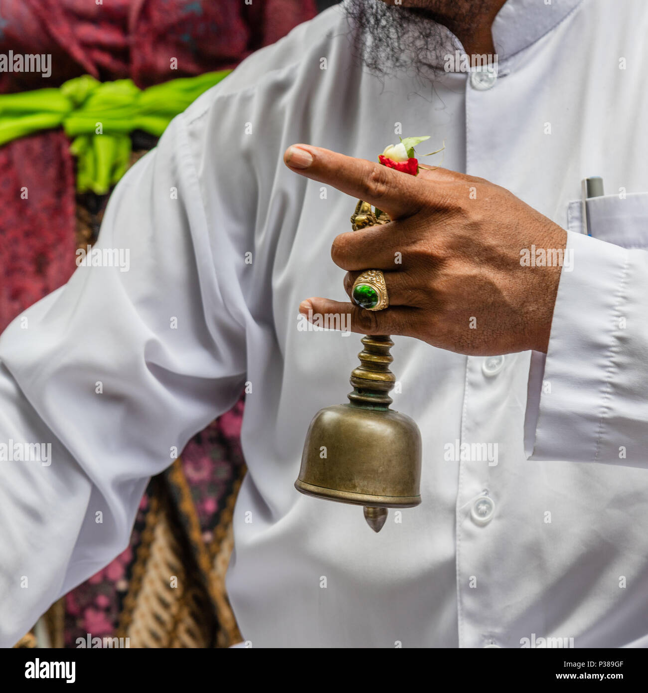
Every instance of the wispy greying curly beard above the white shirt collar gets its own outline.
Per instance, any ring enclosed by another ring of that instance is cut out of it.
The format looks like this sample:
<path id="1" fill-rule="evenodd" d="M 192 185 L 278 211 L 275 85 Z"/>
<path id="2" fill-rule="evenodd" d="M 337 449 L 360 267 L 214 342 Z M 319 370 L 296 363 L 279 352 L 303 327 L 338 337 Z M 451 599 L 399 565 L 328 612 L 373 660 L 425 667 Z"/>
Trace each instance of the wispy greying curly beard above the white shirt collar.
<path id="1" fill-rule="evenodd" d="M 475 19 L 475 6 L 450 0 L 457 21 L 464 26 Z M 435 6 L 443 10 L 448 0 L 421 3 L 426 8 L 403 7 L 380 0 L 346 0 L 342 3 L 353 28 L 354 55 L 371 73 L 379 77 L 404 73 L 433 78 L 444 72 L 444 57 L 454 54 L 460 44 L 454 35 L 435 21 Z M 470 6 L 473 6 L 472 10 Z M 478 13 L 477 13 L 478 14 Z"/>

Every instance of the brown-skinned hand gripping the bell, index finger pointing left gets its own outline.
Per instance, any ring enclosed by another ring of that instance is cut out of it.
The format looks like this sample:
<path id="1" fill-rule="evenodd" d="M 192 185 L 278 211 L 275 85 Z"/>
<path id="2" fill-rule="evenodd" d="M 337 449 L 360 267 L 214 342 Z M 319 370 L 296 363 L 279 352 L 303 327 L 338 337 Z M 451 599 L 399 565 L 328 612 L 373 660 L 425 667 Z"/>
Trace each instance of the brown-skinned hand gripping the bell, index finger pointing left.
<path id="1" fill-rule="evenodd" d="M 340 234 L 331 247 L 349 296 L 360 272 L 383 270 L 389 307 L 310 298 L 301 313 L 351 313 L 353 332 L 407 335 L 469 355 L 547 351 L 561 265 L 523 265 L 520 251 L 554 249 L 562 258 L 567 234 L 557 224 L 505 188 L 444 168 L 412 176 L 304 144 L 284 161 L 392 218 Z"/>

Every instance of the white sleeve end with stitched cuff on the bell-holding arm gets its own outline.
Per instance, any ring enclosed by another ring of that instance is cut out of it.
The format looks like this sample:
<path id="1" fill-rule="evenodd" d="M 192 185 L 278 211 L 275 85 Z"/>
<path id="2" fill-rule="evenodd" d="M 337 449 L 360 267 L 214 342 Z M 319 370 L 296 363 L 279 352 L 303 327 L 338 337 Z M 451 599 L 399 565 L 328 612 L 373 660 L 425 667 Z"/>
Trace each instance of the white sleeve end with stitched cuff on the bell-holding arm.
<path id="1" fill-rule="evenodd" d="M 529 459 L 648 468 L 648 252 L 568 233 L 546 358 L 533 352 Z"/>

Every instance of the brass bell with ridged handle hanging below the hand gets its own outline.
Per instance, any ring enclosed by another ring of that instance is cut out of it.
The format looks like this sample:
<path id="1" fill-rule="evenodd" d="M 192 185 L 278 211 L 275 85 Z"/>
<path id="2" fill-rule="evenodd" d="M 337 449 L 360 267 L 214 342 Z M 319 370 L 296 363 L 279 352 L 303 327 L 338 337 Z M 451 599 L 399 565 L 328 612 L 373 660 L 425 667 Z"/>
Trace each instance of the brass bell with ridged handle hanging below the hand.
<path id="1" fill-rule="evenodd" d="M 364 506 L 367 523 L 380 532 L 387 508 L 421 502 L 421 433 L 409 416 L 389 409 L 394 342 L 385 335 L 365 336 L 362 344 L 349 404 L 319 410 L 310 422 L 295 488 Z"/>

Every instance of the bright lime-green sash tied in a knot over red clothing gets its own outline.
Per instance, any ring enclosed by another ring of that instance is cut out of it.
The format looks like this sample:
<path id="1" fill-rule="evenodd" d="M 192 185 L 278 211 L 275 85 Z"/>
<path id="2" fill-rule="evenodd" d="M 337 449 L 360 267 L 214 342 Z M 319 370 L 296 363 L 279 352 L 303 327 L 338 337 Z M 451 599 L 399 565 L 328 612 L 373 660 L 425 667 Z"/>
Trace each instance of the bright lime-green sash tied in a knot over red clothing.
<path id="1" fill-rule="evenodd" d="M 133 130 L 159 137 L 170 121 L 231 70 L 139 89 L 132 80 L 98 82 L 85 75 L 58 89 L 0 94 L 0 146 L 62 127 L 77 157 L 77 190 L 103 195 L 125 173 Z"/>

